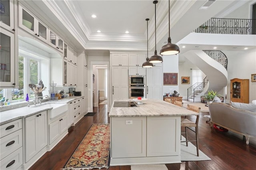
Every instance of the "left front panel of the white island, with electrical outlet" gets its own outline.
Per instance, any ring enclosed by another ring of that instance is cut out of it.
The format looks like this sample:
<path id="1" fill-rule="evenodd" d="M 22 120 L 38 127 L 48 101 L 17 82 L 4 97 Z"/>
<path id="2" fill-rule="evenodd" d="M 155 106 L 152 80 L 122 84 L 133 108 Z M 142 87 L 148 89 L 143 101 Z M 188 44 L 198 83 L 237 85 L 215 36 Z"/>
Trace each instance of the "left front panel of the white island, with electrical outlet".
<path id="1" fill-rule="evenodd" d="M 146 157 L 146 117 L 111 117 L 110 125 L 111 158 Z"/>

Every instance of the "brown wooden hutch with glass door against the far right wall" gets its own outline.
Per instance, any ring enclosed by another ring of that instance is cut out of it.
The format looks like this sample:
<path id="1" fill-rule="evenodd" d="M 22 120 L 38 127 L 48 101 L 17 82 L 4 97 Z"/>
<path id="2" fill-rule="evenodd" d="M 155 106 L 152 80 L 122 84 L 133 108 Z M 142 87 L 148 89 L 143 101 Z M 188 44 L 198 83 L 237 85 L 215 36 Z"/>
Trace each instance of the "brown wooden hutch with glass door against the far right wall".
<path id="1" fill-rule="evenodd" d="M 249 79 L 235 78 L 230 80 L 230 100 L 249 103 Z"/>

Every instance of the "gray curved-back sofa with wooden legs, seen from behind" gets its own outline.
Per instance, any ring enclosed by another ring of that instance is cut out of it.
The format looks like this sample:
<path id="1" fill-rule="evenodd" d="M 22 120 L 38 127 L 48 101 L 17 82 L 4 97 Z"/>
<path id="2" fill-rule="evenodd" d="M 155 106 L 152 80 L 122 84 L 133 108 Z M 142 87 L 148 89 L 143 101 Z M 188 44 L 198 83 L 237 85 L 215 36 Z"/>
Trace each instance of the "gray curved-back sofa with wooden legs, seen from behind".
<path id="1" fill-rule="evenodd" d="M 249 137 L 256 137 L 256 113 L 225 103 L 210 103 L 208 107 L 212 124 L 244 135 L 246 144 L 249 144 Z"/>

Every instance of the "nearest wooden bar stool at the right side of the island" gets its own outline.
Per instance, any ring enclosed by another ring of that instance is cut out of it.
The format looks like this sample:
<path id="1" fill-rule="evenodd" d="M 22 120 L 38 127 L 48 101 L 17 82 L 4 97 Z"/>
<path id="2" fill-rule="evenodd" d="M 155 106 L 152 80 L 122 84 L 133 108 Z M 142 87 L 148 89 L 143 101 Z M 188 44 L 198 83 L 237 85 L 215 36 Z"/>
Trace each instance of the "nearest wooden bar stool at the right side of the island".
<path id="1" fill-rule="evenodd" d="M 200 113 L 200 110 L 201 110 L 200 107 L 196 107 L 196 106 L 193 106 L 193 105 L 187 105 L 187 109 L 189 109 L 191 111 L 194 111 L 196 113 Z M 182 132 L 182 133 L 186 133 L 186 140 L 185 141 L 180 141 L 180 142 L 186 142 L 186 146 L 188 146 L 188 142 L 196 141 L 197 156 L 199 156 L 198 121 L 199 121 L 199 115 L 196 116 L 196 122 L 192 122 L 192 121 L 186 119 L 186 117 L 184 119 L 181 119 L 181 127 L 185 127 L 185 132 Z M 191 127 L 195 127 L 195 130 L 192 129 Z M 192 130 L 193 132 L 196 133 L 196 140 L 188 140 L 187 129 L 190 129 L 190 130 Z"/>

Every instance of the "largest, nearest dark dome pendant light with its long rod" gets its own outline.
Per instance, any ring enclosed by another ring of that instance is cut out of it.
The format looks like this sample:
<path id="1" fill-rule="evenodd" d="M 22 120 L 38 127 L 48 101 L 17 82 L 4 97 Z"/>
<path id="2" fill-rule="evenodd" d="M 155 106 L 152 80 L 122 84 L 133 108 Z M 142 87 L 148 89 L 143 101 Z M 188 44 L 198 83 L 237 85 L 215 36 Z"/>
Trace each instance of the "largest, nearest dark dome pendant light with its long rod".
<path id="1" fill-rule="evenodd" d="M 180 48 L 178 45 L 171 43 L 170 38 L 170 0 L 169 0 L 169 37 L 168 37 L 168 43 L 164 46 L 162 46 L 160 50 L 161 55 L 174 55 L 180 53 Z"/>

